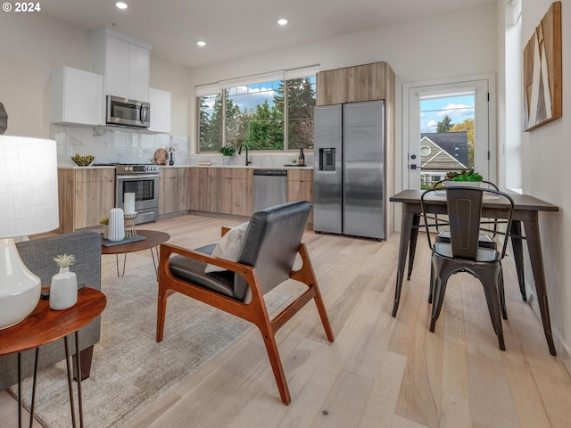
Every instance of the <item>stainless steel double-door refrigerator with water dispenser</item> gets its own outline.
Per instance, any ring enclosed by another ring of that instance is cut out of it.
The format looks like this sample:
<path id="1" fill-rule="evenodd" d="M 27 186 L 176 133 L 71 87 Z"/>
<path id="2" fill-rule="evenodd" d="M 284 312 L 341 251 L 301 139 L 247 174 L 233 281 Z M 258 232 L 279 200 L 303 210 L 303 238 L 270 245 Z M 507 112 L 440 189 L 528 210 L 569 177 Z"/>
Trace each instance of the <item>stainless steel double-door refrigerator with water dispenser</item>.
<path id="1" fill-rule="evenodd" d="M 316 107 L 313 228 L 385 239 L 385 101 Z"/>

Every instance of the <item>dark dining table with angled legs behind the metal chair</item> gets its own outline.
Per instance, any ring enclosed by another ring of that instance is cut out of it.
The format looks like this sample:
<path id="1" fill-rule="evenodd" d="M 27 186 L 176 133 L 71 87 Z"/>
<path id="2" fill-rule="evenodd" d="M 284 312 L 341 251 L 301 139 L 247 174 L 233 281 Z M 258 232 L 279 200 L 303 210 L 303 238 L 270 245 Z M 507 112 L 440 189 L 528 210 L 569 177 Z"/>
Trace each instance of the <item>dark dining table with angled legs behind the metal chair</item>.
<path id="1" fill-rule="evenodd" d="M 403 190 L 391 196 L 391 202 L 402 204 L 401 217 L 401 241 L 399 245 L 399 259 L 397 266 L 396 286 L 394 290 L 393 317 L 396 317 L 401 300 L 402 282 L 404 278 L 404 268 L 409 256 L 409 270 L 407 279 L 410 279 L 414 264 L 414 253 L 417 246 L 418 228 L 422 208 L 420 206 L 420 195 L 422 190 Z M 527 194 L 509 193 L 514 200 L 514 212 L 509 237 L 514 252 L 516 263 L 517 280 L 519 282 L 522 299 L 526 300 L 525 277 L 524 277 L 524 254 L 523 240 L 527 242 L 527 251 L 534 275 L 535 292 L 537 302 L 542 315 L 543 332 L 551 355 L 556 355 L 553 334 L 551 333 L 550 308 L 547 296 L 547 286 L 545 284 L 545 272 L 543 268 L 542 242 L 539 231 L 540 211 L 559 211 L 559 207 Z M 446 214 L 446 199 L 431 198 L 425 200 L 426 212 L 431 214 Z M 485 218 L 508 218 L 509 204 L 498 200 L 484 200 L 482 215 Z M 522 225 L 525 235 L 522 235 Z"/>

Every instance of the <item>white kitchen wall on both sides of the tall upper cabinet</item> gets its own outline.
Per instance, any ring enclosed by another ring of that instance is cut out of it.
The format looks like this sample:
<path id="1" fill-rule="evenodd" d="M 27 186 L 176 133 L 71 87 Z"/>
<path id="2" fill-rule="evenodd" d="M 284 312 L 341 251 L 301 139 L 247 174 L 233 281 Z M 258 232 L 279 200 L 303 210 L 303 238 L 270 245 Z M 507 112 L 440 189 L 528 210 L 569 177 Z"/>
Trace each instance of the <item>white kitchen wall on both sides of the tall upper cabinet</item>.
<path id="1" fill-rule="evenodd" d="M 40 13 L 0 13 L 0 103 L 6 134 L 50 136 L 50 72 L 68 65 L 91 70 L 89 33 Z M 151 86 L 172 95 L 172 134 L 188 135 L 194 103 L 189 70 L 151 51 Z"/>

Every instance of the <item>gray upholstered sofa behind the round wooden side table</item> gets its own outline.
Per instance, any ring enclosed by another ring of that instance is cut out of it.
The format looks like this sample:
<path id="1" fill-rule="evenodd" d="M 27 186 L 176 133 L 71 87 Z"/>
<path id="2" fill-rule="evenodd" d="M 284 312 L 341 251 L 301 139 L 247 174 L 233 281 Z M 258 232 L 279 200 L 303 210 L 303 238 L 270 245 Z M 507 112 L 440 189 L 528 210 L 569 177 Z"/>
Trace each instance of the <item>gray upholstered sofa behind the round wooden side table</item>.
<path id="1" fill-rule="evenodd" d="M 73 254 L 76 262 L 71 267 L 78 277 L 78 284 L 101 290 L 101 235 L 92 231 L 54 235 L 17 243 L 20 257 L 25 265 L 42 280 L 42 286 L 50 285 L 52 276 L 58 272 L 54 257 L 58 254 Z M 81 356 L 82 379 L 89 376 L 93 346 L 99 342 L 101 319 L 97 317 L 91 324 L 80 330 L 79 349 Z M 2 343 L 0 343 L 2 346 Z M 75 340 L 70 336 L 70 350 L 75 350 Z M 49 343 L 39 350 L 39 369 L 53 366 L 65 358 L 63 340 Z M 0 357 L 0 390 L 14 383 L 17 378 L 16 354 Z M 34 350 L 22 353 L 22 376 L 33 374 Z"/>

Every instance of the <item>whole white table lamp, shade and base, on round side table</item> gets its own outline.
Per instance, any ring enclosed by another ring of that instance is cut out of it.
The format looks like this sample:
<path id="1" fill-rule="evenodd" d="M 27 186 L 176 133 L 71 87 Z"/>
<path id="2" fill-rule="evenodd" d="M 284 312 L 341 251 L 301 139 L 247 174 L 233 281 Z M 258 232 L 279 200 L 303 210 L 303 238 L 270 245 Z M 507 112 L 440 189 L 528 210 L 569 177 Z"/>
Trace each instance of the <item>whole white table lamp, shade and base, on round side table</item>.
<path id="1" fill-rule="evenodd" d="M 0 135 L 0 329 L 28 317 L 41 293 L 13 238 L 58 226 L 55 141 Z"/>

